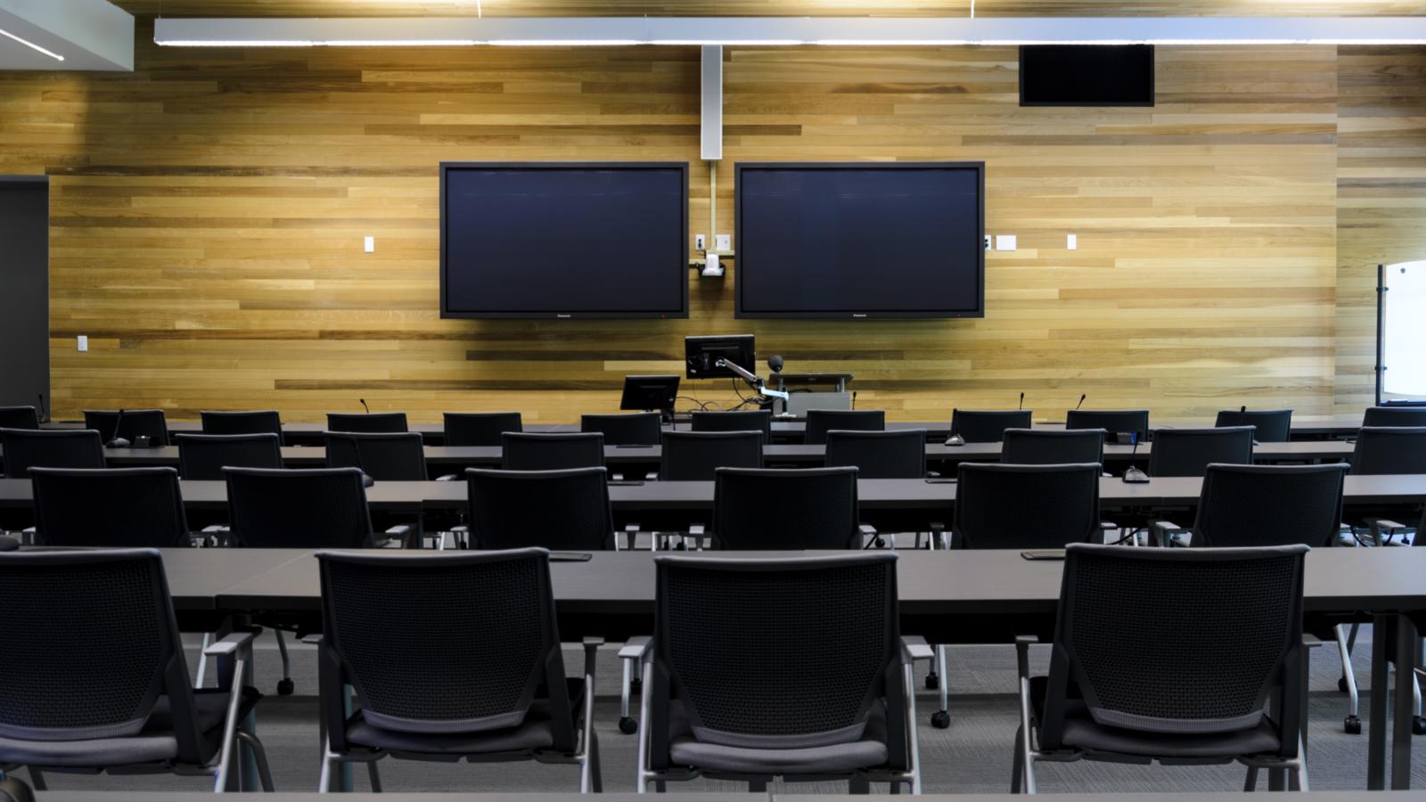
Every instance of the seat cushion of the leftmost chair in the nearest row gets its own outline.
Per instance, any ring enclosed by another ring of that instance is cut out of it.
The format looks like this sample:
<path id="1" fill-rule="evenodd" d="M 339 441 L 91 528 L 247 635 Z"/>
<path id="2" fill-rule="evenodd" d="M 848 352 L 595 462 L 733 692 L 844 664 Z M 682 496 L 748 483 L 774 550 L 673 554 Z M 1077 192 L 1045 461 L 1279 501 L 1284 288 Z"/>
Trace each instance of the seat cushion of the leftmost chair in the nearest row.
<path id="1" fill-rule="evenodd" d="M 215 688 L 194 691 L 198 709 L 198 729 L 202 731 L 204 751 L 217 755 L 222 741 L 228 694 Z M 252 711 L 262 694 L 255 688 L 242 689 L 238 716 Z M 137 734 L 125 738 L 96 738 L 90 741 L 20 741 L 0 738 L 0 763 L 56 768 L 108 768 L 135 763 L 160 763 L 178 756 L 178 739 L 173 732 L 168 696 L 160 696 L 148 721 Z"/>

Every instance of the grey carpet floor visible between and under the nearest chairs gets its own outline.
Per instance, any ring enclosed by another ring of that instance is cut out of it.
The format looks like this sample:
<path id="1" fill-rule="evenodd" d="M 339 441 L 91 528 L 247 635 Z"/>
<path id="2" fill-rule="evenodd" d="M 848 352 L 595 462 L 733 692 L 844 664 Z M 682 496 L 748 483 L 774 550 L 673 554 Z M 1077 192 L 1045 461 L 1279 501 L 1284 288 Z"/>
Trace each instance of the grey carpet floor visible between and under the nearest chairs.
<path id="1" fill-rule="evenodd" d="M 1366 684 L 1370 654 L 1370 628 L 1363 626 L 1356 645 L 1356 674 L 1362 686 L 1363 724 L 1369 711 Z M 599 664 L 599 701 L 596 725 L 603 752 L 605 791 L 632 791 L 636 736 L 617 729 L 619 666 L 607 646 Z M 1035 671 L 1044 671 L 1048 655 L 1034 649 Z M 258 685 L 270 694 L 258 711 L 258 732 L 267 745 L 279 791 L 315 791 L 318 779 L 317 688 L 309 646 L 294 646 L 297 695 L 272 694 L 278 678 L 278 659 L 271 636 L 260 641 Z M 566 655 L 573 669 L 576 655 Z M 917 718 L 921 721 L 921 761 L 928 793 L 1008 791 L 1011 742 L 1015 734 L 1018 704 L 1015 656 L 1011 646 L 957 646 L 951 649 L 951 726 L 934 729 L 927 724 L 935 709 L 933 692 L 921 691 Z M 195 665 L 195 662 L 190 662 Z M 1309 775 L 1313 789 L 1366 788 L 1366 735 L 1346 735 L 1342 716 L 1346 695 L 1336 691 L 1338 652 L 1333 645 L 1313 649 L 1310 694 Z M 1172 676 L 1165 678 L 1172 682 Z M 211 679 L 210 679 L 211 682 Z M 1413 746 L 1415 788 L 1426 788 L 1426 736 Z M 388 791 L 576 791 L 578 773 L 572 766 L 539 763 L 428 763 L 386 759 L 381 762 L 382 782 Z M 1122 766 L 1079 762 L 1045 765 L 1040 769 L 1041 792 L 1147 792 L 1147 791 L 1239 791 L 1242 766 Z M 356 788 L 365 789 L 365 772 L 358 769 Z M 47 775 L 51 789 L 128 789 L 178 791 L 201 789 L 198 778 L 170 776 L 83 776 Z M 699 779 L 679 783 L 670 791 L 742 791 L 736 783 Z M 806 783 L 796 792 L 846 792 L 846 783 Z M 876 789 L 873 789 L 876 791 Z M 884 791 L 884 788 L 883 788 Z M 1259 783 L 1266 791 L 1266 782 Z"/>

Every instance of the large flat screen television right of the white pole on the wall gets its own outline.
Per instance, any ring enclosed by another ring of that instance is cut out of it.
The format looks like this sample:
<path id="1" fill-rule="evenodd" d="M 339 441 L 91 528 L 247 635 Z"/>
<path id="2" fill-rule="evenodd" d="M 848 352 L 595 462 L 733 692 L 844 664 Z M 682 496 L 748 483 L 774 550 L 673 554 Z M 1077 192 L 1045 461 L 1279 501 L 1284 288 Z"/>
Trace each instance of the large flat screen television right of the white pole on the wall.
<path id="1" fill-rule="evenodd" d="M 985 163 L 740 163 L 740 318 L 985 315 Z"/>

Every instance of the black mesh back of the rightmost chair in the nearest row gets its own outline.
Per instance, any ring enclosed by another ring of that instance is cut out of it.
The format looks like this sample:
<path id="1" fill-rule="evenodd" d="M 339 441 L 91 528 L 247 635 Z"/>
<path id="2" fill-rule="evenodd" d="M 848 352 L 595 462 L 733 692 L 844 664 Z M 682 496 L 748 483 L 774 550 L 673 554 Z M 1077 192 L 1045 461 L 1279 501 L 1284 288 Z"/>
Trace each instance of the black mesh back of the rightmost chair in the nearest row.
<path id="1" fill-rule="evenodd" d="M 1252 731 L 1263 722 L 1268 694 L 1279 688 L 1276 729 L 1291 734 L 1282 749 L 1296 753 L 1306 552 L 1305 545 L 1070 545 L 1041 749 L 1064 746 L 1075 705 L 1087 706 L 1095 725 L 1117 731 Z M 1162 605 L 1144 604 L 1154 598 L 1174 599 L 1172 609 L 1165 615 Z M 1164 681 L 1166 674 L 1172 682 Z"/>

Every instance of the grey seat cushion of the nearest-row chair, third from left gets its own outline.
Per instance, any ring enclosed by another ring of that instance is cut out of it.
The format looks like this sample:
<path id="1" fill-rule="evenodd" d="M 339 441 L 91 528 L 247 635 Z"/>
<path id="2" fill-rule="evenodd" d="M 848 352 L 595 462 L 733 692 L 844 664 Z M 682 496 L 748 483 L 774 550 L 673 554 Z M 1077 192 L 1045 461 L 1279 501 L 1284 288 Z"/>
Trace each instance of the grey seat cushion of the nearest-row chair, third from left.
<path id="1" fill-rule="evenodd" d="M 669 708 L 669 758 L 704 772 L 826 775 L 851 773 L 887 762 L 887 715 L 883 702 L 871 708 L 861 739 L 801 749 L 754 749 L 707 743 L 693 736 L 683 702 Z"/>

